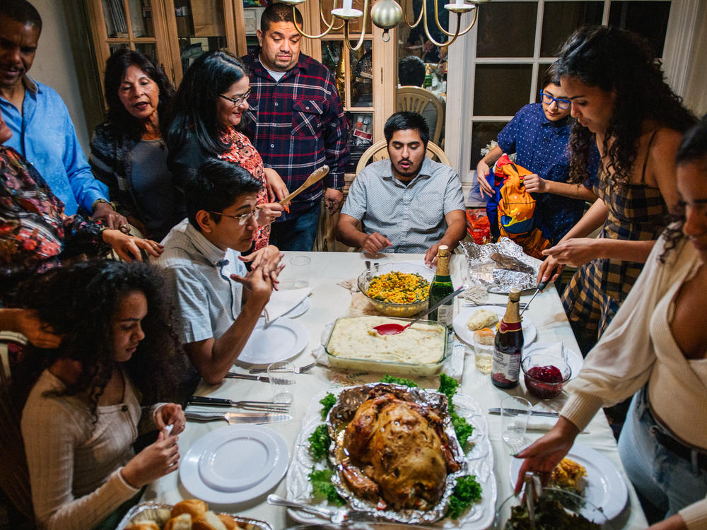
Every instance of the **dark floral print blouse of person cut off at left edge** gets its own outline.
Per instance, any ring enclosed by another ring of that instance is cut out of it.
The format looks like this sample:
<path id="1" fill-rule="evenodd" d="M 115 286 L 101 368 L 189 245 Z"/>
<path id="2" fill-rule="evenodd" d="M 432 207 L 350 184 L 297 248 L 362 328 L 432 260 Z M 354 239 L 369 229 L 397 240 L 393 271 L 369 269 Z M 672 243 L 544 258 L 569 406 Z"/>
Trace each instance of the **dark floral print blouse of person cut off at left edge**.
<path id="1" fill-rule="evenodd" d="M 0 307 L 20 281 L 103 245 L 98 223 L 78 213 L 66 216 L 35 167 L 0 146 Z"/>

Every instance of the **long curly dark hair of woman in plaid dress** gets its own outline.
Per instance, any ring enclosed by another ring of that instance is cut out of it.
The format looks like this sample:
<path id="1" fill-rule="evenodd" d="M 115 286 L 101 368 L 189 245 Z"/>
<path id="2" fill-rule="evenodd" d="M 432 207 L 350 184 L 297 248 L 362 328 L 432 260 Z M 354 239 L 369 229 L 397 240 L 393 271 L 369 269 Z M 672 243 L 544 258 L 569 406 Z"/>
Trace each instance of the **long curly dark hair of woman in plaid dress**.
<path id="1" fill-rule="evenodd" d="M 665 83 L 660 62 L 648 42 L 631 31 L 607 26 L 585 26 L 562 45 L 556 63 L 561 78 L 577 78 L 588 86 L 617 95 L 614 112 L 604 135 L 607 170 L 612 186 L 625 187 L 638 154 L 638 138 L 646 120 L 684 132 L 695 122 Z M 612 140 L 609 146 L 609 140 Z M 595 135 L 574 124 L 570 136 L 570 178 L 583 181 Z"/>

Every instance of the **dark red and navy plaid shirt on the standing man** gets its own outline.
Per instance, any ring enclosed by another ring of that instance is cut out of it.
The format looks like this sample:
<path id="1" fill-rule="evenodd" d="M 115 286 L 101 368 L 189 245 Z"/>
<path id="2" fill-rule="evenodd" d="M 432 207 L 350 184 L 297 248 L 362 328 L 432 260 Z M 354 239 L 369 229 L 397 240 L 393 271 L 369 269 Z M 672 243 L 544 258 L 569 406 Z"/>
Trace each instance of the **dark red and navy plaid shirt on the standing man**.
<path id="1" fill-rule="evenodd" d="M 275 81 L 259 59 L 259 49 L 243 57 L 250 69 L 250 118 L 245 133 L 263 158 L 293 192 L 322 165 L 331 170 L 326 187 L 344 187 L 349 163 L 349 125 L 334 77 L 319 61 L 300 53 L 293 69 Z M 322 182 L 300 194 L 290 205 L 288 220 L 308 210 L 322 196 Z"/>

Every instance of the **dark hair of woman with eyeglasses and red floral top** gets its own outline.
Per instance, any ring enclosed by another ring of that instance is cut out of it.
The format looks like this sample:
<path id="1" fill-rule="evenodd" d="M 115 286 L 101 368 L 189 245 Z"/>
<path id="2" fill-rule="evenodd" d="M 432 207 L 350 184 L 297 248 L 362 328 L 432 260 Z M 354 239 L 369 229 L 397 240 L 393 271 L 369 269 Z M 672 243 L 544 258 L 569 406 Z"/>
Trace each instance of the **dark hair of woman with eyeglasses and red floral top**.
<path id="1" fill-rule="evenodd" d="M 197 140 L 203 151 L 219 155 L 229 146 L 219 138 L 221 127 L 216 117 L 216 102 L 233 83 L 248 72 L 243 61 L 228 52 L 206 52 L 194 61 L 177 88 L 165 123 L 165 140 L 170 151 Z M 245 113 L 239 129 L 245 126 Z"/>

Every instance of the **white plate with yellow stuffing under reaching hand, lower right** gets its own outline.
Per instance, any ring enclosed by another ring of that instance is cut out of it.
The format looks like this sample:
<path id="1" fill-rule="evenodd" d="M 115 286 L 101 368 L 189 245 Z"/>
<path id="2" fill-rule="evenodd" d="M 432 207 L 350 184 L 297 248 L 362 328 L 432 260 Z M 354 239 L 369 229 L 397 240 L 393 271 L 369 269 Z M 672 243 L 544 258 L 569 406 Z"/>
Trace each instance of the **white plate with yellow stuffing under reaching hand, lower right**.
<path id="1" fill-rule="evenodd" d="M 586 500 L 597 507 L 601 507 L 607 519 L 613 519 L 624 510 L 629 490 L 626 482 L 621 478 L 619 470 L 612 461 L 600 452 L 583 444 L 575 443 L 567 454 L 567 458 L 574 460 L 587 470 L 584 488 Z M 515 485 L 518 478 L 522 459 L 510 459 L 510 482 Z"/>

